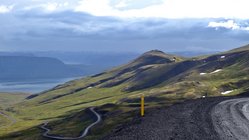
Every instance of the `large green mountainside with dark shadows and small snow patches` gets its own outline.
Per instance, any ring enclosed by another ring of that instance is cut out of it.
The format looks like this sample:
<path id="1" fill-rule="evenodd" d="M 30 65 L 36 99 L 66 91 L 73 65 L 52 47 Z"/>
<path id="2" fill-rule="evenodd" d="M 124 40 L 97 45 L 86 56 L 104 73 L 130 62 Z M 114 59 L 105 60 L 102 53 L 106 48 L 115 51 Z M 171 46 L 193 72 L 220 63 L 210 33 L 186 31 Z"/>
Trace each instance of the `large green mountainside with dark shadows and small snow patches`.
<path id="1" fill-rule="evenodd" d="M 94 121 L 87 111 L 92 106 L 103 121 L 87 139 L 100 139 L 139 116 L 142 94 L 145 112 L 186 99 L 243 94 L 249 91 L 248 60 L 248 46 L 193 58 L 149 51 L 125 65 L 69 81 L 12 105 L 5 111 L 19 121 L 0 131 L 0 139 L 43 139 L 39 126 L 47 121 L 52 135 L 79 136 Z"/>

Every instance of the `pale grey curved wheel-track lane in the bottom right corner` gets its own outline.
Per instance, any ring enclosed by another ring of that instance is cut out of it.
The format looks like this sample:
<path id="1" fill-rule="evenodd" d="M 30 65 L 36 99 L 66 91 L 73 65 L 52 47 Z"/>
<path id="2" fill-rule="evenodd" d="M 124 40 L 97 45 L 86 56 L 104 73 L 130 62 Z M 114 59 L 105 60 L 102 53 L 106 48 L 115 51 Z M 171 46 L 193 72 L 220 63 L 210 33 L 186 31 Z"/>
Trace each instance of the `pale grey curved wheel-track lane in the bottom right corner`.
<path id="1" fill-rule="evenodd" d="M 220 139 L 249 139 L 249 98 L 223 101 L 214 107 L 212 115 Z"/>

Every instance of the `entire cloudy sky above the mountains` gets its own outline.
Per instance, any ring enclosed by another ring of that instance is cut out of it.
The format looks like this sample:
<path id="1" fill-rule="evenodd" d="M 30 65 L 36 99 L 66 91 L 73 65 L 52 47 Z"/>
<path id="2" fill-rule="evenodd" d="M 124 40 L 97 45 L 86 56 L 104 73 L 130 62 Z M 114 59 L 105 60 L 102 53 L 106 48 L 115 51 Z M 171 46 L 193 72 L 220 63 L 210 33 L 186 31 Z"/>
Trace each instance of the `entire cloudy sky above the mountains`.
<path id="1" fill-rule="evenodd" d="M 224 51 L 248 0 L 0 0 L 0 51 Z"/>

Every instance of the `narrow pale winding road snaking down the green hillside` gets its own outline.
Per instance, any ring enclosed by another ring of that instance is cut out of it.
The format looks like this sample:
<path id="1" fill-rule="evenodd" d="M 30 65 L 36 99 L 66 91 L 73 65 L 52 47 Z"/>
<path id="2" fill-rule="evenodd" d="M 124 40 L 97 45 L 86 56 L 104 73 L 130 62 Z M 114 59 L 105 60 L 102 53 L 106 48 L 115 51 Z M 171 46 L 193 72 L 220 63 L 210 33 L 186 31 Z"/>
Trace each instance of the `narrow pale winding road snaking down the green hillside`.
<path id="1" fill-rule="evenodd" d="M 94 107 L 90 108 L 90 111 L 97 117 L 97 120 L 94 123 L 90 124 L 79 137 L 72 138 L 72 137 L 58 137 L 58 136 L 49 135 L 49 132 L 51 130 L 46 127 L 48 122 L 45 122 L 41 126 L 41 129 L 45 130 L 45 132 L 43 133 L 43 137 L 50 139 L 57 139 L 57 140 L 77 140 L 84 138 L 88 134 L 89 130 L 102 120 L 101 116 L 94 110 Z"/>

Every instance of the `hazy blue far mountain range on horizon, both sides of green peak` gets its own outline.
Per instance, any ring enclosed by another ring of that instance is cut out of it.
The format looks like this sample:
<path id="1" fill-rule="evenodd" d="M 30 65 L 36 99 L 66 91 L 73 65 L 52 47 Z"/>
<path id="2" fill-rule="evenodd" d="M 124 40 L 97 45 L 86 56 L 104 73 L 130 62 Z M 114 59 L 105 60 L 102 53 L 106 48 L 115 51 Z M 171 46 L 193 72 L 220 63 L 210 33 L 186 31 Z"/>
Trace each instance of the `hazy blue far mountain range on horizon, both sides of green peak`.
<path id="1" fill-rule="evenodd" d="M 169 52 L 184 57 L 195 57 L 200 55 L 214 54 L 217 52 L 207 51 L 177 51 Z M 140 56 L 138 52 L 0 52 L 0 56 L 38 56 L 57 58 L 66 64 L 83 64 L 86 66 L 101 65 L 107 68 L 118 66 Z M 104 63 L 103 63 L 104 62 Z"/>

